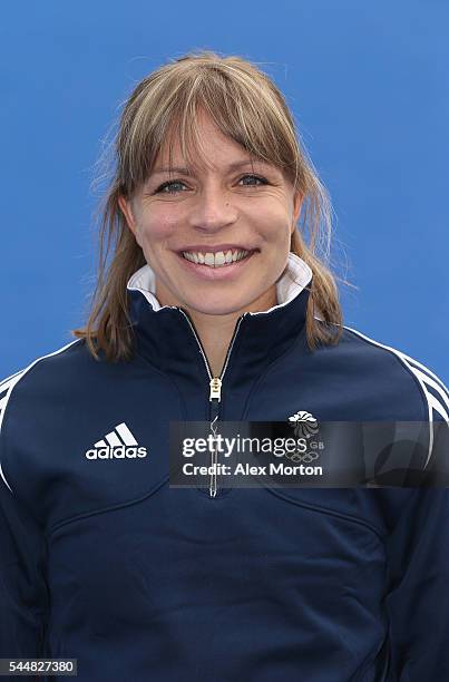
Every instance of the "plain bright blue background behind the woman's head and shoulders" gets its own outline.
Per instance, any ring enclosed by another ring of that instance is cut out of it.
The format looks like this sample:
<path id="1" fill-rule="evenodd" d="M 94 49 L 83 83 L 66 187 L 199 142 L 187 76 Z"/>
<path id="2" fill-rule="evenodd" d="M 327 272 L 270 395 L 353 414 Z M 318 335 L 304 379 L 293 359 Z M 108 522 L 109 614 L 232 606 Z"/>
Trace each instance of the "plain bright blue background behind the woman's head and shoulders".
<path id="1" fill-rule="evenodd" d="M 135 85 L 194 49 L 284 92 L 333 207 L 345 324 L 448 383 L 449 3 L 4 4 L 0 377 L 74 340 L 96 266 L 101 139 Z"/>

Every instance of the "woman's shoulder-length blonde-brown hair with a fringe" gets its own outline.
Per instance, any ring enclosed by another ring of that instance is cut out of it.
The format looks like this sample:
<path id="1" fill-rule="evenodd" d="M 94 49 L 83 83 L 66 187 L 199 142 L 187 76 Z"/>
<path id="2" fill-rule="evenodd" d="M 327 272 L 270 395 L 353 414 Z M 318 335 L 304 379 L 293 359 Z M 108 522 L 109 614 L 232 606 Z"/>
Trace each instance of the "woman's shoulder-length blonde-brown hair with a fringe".
<path id="1" fill-rule="evenodd" d="M 168 145 L 172 159 L 175 135 L 184 157 L 192 158 L 201 147 L 199 108 L 251 155 L 279 167 L 301 194 L 303 203 L 291 251 L 313 272 L 306 312 L 308 343 L 312 350 L 319 343 L 338 343 L 342 312 L 335 277 L 326 265 L 332 231 L 328 192 L 271 78 L 242 57 L 222 57 L 209 50 L 191 52 L 159 67 L 135 87 L 125 104 L 113 145 L 115 172 L 100 207 L 97 282 L 86 327 L 71 330 L 72 335 L 86 339 L 97 360 L 99 350 L 110 362 L 131 359 L 134 332 L 127 282 L 146 260 L 118 198 L 131 197 L 146 181 L 163 145 Z M 309 244 L 303 237 L 306 230 Z"/>

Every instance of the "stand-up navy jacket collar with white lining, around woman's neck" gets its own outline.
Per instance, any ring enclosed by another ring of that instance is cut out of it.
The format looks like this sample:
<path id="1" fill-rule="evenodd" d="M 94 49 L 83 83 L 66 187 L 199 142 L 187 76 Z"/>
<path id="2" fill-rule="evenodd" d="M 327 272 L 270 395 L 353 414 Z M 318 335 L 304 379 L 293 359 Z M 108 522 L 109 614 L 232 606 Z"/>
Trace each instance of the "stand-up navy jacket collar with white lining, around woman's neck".
<path id="1" fill-rule="evenodd" d="M 260 372 L 262 366 L 279 357 L 305 331 L 311 281 L 310 266 L 290 252 L 276 282 L 277 304 L 240 316 L 224 364 L 226 374 L 236 370 Z M 207 359 L 187 311 L 159 304 L 155 273 L 148 264 L 130 276 L 127 292 L 137 351 L 164 372 L 184 376 L 194 367 L 203 372 L 203 380 L 211 379 Z"/>

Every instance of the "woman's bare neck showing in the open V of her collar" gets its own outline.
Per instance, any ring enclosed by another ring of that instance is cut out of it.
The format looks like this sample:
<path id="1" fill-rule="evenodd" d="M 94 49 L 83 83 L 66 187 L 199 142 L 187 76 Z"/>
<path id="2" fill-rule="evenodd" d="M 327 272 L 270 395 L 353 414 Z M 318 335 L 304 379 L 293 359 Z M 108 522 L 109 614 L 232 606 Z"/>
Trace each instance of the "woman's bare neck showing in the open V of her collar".
<path id="1" fill-rule="evenodd" d="M 165 300 L 164 293 L 162 291 L 158 292 L 157 286 L 156 296 L 162 305 L 179 304 L 178 302 L 175 303 L 173 300 Z M 223 315 L 203 313 L 193 308 L 180 305 L 185 308 L 195 327 L 214 377 L 219 377 L 222 373 L 227 349 L 231 344 L 238 318 L 247 311 L 255 312 L 269 310 L 273 305 L 276 305 L 276 285 L 274 284 L 252 303 Z"/>

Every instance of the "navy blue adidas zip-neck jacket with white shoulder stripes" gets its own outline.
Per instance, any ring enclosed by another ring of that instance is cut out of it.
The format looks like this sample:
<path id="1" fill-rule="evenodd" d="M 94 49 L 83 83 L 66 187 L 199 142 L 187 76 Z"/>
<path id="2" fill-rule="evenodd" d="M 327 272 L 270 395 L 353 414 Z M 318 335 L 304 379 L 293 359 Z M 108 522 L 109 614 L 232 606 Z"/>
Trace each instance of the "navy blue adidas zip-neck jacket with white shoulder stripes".
<path id="1" fill-rule="evenodd" d="M 169 487 L 172 420 L 448 419 L 404 353 L 349 328 L 309 349 L 311 277 L 290 254 L 212 399 L 148 265 L 128 282 L 131 361 L 76 340 L 0 383 L 0 657 L 77 659 L 80 682 L 449 680 L 447 488 Z"/>

